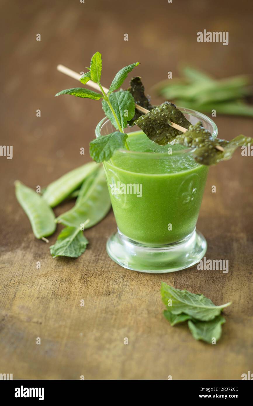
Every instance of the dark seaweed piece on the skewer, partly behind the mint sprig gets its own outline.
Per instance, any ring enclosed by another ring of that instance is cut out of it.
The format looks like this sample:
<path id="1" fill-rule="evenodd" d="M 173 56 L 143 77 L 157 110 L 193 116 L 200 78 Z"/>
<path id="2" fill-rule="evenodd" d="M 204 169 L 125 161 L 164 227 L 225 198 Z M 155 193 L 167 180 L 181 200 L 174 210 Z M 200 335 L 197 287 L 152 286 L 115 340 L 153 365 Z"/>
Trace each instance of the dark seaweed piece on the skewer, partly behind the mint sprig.
<path id="1" fill-rule="evenodd" d="M 141 78 L 136 76 L 130 80 L 130 87 L 127 89 L 134 97 L 134 101 L 138 106 L 144 107 L 147 110 L 152 110 L 155 106 L 150 104 L 150 99 L 144 93 L 145 88 L 141 82 Z M 135 114 L 132 120 L 129 121 L 129 125 L 134 125 L 134 121 L 141 117 L 143 113 L 135 108 Z"/>

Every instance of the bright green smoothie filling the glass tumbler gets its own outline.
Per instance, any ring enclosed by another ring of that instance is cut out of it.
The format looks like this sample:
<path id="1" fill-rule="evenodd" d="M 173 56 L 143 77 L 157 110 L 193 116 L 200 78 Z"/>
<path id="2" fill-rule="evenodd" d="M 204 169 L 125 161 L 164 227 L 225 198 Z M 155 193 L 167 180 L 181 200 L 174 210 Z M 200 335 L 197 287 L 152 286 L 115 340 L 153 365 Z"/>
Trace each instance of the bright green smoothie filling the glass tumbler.
<path id="1" fill-rule="evenodd" d="M 184 239 L 196 226 L 208 166 L 181 145 L 157 145 L 141 131 L 128 134 L 128 145 L 130 152 L 104 162 L 119 231 L 151 246 Z"/>

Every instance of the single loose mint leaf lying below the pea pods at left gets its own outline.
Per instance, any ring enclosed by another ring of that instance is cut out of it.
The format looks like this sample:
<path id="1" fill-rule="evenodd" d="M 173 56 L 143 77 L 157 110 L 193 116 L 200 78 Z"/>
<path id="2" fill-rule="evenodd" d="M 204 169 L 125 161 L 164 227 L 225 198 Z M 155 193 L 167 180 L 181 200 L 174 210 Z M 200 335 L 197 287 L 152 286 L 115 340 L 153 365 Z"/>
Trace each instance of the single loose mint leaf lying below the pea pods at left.
<path id="1" fill-rule="evenodd" d="M 77 258 L 86 250 L 88 240 L 80 228 L 65 227 L 58 235 L 56 243 L 50 246 L 50 253 L 55 257 Z"/>

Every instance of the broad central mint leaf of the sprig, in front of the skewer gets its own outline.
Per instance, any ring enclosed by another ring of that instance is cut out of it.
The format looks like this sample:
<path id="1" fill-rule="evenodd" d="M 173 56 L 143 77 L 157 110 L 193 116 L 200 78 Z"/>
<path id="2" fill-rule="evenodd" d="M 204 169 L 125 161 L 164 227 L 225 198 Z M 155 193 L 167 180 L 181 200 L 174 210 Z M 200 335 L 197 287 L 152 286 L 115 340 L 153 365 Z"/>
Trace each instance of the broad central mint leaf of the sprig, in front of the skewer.
<path id="1" fill-rule="evenodd" d="M 134 117 L 135 103 L 133 96 L 128 90 L 122 90 L 112 93 L 109 96 L 109 102 L 115 111 L 121 128 L 125 128 L 128 125 L 128 121 Z M 113 116 L 112 111 L 105 100 L 102 100 L 102 108 L 108 119 L 110 119 L 112 125 L 119 130 L 115 117 Z"/>

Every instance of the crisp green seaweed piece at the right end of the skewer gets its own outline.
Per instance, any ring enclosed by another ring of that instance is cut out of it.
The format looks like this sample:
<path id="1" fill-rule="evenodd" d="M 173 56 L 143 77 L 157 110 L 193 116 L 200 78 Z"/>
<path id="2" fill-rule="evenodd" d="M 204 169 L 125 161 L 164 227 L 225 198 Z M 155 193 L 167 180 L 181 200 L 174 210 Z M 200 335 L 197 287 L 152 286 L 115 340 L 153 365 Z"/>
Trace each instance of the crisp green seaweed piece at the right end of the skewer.
<path id="1" fill-rule="evenodd" d="M 239 135 L 231 141 L 212 138 L 211 133 L 202 126 L 201 121 L 190 125 L 188 131 L 177 135 L 171 145 L 181 144 L 186 148 L 196 148 L 192 155 L 196 162 L 204 165 L 215 165 L 232 158 L 233 153 L 242 145 L 253 144 L 253 138 Z M 222 147 L 224 151 L 216 147 Z"/>

